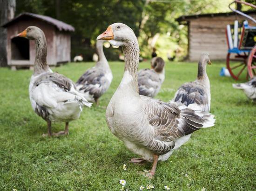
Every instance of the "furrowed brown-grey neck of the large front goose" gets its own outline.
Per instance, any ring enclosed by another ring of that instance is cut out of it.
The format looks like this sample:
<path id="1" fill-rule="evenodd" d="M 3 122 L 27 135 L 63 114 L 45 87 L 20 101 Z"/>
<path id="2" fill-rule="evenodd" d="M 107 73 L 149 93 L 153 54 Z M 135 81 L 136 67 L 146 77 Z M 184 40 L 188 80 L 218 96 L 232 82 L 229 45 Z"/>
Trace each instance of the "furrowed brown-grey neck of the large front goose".
<path id="1" fill-rule="evenodd" d="M 131 80 L 131 87 L 137 94 L 139 94 L 139 86 L 138 86 L 138 65 L 140 58 L 140 49 L 138 45 L 137 39 L 134 41 L 128 42 L 126 45 L 122 47 L 124 53 L 124 76 L 123 79 L 128 73 Z M 128 75 L 128 76 L 129 76 Z"/>

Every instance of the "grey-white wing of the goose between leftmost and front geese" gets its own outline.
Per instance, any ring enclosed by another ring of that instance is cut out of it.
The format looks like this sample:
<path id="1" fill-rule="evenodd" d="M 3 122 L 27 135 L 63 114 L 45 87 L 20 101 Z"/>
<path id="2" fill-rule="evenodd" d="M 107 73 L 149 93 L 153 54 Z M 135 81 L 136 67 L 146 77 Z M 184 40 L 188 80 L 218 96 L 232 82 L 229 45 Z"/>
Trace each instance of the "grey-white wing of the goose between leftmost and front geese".
<path id="1" fill-rule="evenodd" d="M 94 97 L 100 97 L 106 90 L 108 79 L 104 70 L 100 68 L 91 68 L 87 70 L 76 82 L 81 92 L 89 92 Z"/>

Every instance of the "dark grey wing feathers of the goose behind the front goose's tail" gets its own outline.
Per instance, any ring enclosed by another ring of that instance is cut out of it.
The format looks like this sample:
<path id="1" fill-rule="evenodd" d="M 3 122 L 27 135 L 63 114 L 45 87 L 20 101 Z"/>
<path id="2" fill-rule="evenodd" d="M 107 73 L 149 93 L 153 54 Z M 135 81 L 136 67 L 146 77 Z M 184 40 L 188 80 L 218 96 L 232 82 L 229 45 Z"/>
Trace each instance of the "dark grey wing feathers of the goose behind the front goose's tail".
<path id="1" fill-rule="evenodd" d="M 173 100 L 188 106 L 193 103 L 206 104 L 208 98 L 202 85 L 191 82 L 184 83 L 175 93 Z"/>

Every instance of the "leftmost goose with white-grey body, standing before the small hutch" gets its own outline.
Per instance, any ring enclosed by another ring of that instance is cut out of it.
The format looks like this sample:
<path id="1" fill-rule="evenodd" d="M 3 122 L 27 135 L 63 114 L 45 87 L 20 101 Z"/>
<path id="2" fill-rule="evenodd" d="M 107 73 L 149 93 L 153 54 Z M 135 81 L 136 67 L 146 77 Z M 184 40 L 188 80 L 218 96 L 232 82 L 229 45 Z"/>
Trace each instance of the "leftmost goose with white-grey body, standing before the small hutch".
<path id="1" fill-rule="evenodd" d="M 69 121 L 80 117 L 84 106 L 91 106 L 67 77 L 53 72 L 47 64 L 47 43 L 44 32 L 28 26 L 18 37 L 35 41 L 34 73 L 29 83 L 29 99 L 34 112 L 47 121 L 48 133 L 43 136 L 68 134 Z M 65 122 L 65 131 L 52 134 L 52 121 Z"/>

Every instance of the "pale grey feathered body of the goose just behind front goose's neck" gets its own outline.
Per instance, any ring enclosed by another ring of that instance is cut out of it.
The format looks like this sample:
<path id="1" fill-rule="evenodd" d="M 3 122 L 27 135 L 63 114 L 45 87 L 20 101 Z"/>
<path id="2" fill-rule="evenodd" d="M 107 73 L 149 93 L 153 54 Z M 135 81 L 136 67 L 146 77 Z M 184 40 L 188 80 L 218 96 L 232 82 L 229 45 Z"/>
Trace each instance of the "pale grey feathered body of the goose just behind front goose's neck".
<path id="1" fill-rule="evenodd" d="M 161 87 L 161 79 L 154 70 L 144 69 L 138 73 L 140 95 L 154 97 Z"/>

